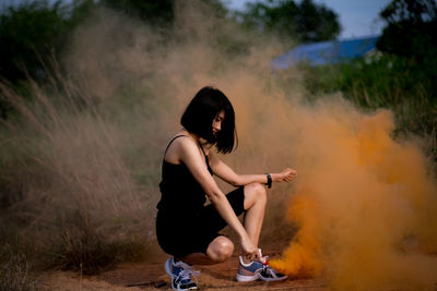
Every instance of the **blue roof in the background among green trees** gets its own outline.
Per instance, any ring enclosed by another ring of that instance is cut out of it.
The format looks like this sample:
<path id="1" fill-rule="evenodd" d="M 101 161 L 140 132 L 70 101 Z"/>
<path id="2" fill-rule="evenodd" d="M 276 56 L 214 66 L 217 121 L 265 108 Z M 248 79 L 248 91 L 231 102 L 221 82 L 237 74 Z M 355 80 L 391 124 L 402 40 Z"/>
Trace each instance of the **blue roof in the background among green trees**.
<path id="1" fill-rule="evenodd" d="M 378 36 L 373 36 L 300 45 L 273 59 L 273 69 L 287 69 L 302 61 L 318 65 L 364 57 L 376 48 L 378 38 Z"/>

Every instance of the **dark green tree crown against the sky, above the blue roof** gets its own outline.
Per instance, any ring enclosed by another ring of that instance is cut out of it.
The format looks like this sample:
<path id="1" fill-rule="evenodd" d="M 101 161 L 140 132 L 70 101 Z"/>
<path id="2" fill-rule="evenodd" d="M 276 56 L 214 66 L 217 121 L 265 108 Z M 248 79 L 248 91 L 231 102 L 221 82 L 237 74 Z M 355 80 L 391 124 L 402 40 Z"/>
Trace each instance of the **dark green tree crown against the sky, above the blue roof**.
<path id="1" fill-rule="evenodd" d="M 248 3 L 247 11 L 239 15 L 248 27 L 288 36 L 302 43 L 334 39 L 341 31 L 335 12 L 312 0 Z"/>

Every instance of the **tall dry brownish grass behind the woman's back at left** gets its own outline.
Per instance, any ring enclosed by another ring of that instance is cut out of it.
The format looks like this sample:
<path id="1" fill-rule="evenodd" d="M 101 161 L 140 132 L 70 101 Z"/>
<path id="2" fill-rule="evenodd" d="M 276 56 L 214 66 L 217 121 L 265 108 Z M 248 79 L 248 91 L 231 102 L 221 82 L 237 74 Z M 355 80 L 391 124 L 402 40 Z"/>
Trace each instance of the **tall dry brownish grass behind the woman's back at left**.
<path id="1" fill-rule="evenodd" d="M 50 84 L 26 85 L 31 101 L 0 84 L 16 111 L 0 133 L 0 244 L 27 245 L 43 267 L 84 274 L 143 257 L 156 195 L 132 179 L 129 131 L 79 83 L 50 71 Z"/>

